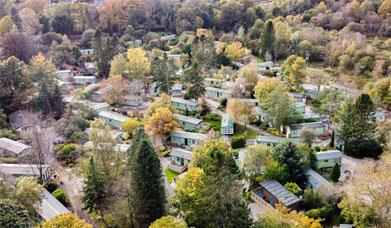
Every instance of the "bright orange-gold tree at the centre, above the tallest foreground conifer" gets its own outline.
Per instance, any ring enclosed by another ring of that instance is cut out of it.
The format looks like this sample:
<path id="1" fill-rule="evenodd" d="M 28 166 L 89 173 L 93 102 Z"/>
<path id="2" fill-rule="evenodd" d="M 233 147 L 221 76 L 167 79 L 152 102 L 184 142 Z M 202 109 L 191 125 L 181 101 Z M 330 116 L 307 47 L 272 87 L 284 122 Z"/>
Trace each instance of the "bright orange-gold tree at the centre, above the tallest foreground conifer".
<path id="1" fill-rule="evenodd" d="M 156 112 L 147 119 L 145 130 L 157 135 L 165 135 L 178 128 L 173 114 L 168 108 L 157 108 Z"/>

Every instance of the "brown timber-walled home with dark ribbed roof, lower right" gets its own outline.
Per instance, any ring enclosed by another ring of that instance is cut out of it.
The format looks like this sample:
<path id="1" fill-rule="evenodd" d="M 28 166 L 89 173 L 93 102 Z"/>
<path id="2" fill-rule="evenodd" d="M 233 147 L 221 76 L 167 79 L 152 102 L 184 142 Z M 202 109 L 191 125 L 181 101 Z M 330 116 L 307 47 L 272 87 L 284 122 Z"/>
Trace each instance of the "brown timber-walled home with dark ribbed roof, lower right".
<path id="1" fill-rule="evenodd" d="M 251 198 L 256 203 L 265 205 L 265 202 L 276 207 L 278 204 L 292 210 L 299 208 L 300 199 L 291 191 L 286 189 L 276 180 L 267 180 L 259 183 L 259 188 L 251 192 Z"/>

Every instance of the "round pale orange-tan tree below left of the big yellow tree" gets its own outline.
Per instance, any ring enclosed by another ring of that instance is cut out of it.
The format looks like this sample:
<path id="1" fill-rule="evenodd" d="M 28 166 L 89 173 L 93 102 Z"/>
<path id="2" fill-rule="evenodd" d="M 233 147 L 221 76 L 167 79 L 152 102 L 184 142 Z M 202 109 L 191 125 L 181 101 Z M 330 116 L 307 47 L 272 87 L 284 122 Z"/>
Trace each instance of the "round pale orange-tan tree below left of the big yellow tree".
<path id="1" fill-rule="evenodd" d="M 129 83 L 121 75 L 111 76 L 101 83 L 103 99 L 109 104 L 120 104 L 128 93 Z"/>

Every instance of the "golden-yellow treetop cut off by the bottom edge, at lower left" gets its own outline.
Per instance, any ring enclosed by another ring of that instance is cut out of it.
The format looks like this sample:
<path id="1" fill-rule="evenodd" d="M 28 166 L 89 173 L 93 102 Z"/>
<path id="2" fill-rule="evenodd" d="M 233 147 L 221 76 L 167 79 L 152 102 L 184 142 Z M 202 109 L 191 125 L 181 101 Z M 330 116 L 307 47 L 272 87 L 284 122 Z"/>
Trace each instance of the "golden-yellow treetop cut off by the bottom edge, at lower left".
<path id="1" fill-rule="evenodd" d="M 78 218 L 75 214 L 69 212 L 66 214 L 57 215 L 41 224 L 42 228 L 56 228 L 56 227 L 79 227 L 92 228 L 91 224 Z"/>

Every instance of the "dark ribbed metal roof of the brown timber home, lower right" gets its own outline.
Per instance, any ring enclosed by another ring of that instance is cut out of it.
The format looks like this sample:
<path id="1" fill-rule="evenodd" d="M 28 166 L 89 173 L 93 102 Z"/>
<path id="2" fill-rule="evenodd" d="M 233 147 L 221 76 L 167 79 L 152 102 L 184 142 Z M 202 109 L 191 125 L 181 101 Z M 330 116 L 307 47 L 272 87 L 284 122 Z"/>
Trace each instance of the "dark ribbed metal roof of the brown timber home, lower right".
<path id="1" fill-rule="evenodd" d="M 286 189 L 276 180 L 267 180 L 259 184 L 286 207 L 289 207 L 300 201 L 300 199 L 295 194 Z"/>

